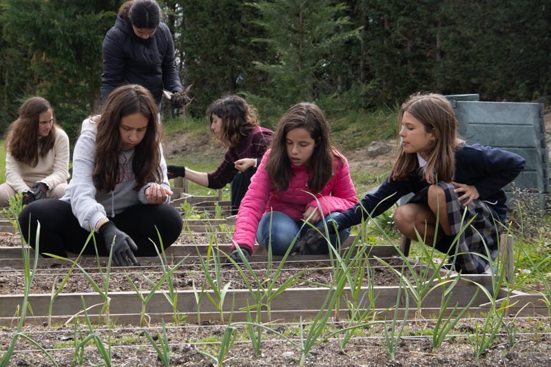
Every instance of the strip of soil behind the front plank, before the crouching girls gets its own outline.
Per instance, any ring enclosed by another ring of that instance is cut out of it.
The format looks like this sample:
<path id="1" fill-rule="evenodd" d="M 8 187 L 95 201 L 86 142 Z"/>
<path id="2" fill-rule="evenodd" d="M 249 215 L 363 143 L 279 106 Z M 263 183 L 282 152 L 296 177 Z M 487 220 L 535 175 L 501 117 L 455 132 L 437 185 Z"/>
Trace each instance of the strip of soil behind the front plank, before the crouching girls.
<path id="1" fill-rule="evenodd" d="M 386 259 L 387 262 L 393 266 L 402 265 L 402 260 Z M 223 262 L 223 259 L 222 259 Z M 105 269 L 101 272 L 98 271 L 97 262 L 94 258 L 84 258 L 79 261 L 79 264 L 86 271 L 87 275 L 90 275 L 92 280 L 96 284 L 102 284 L 103 276 L 105 275 Z M 54 262 L 48 266 L 38 266 L 37 271 L 34 272 L 34 282 L 31 286 L 31 293 L 46 293 L 52 292 L 52 286 L 56 289 L 61 286 L 63 279 L 70 271 L 70 263 L 68 262 Z M 258 280 L 271 281 L 271 274 L 277 269 L 278 264 L 273 266 L 273 271 L 268 273 L 266 263 L 264 262 L 251 262 L 251 268 L 254 271 L 253 276 L 249 273 L 248 269 L 243 269 L 247 274 L 247 282 L 258 288 Z M 399 279 L 391 269 L 388 267 L 375 264 L 371 268 L 375 272 L 375 278 L 373 285 L 375 286 L 397 286 Z M 404 274 L 408 279 L 412 280 L 408 276 L 407 269 L 404 269 Z M 161 277 L 163 277 L 163 269 L 161 266 L 148 266 L 141 261 L 141 266 L 132 267 L 114 267 L 112 268 L 110 275 L 110 292 L 133 292 L 134 284 L 138 289 L 142 291 L 149 291 L 153 288 Z M 300 260 L 300 256 L 290 258 L 282 271 L 279 273 L 275 280 L 275 288 L 279 288 L 285 282 L 291 280 L 291 278 L 298 276 L 298 279 L 292 280 L 293 288 L 312 287 L 314 283 L 324 284 L 329 286 L 333 280 L 334 271 L 331 267 L 329 260 L 327 261 L 314 261 L 305 262 Z M 216 271 L 214 264 L 209 266 L 209 276 L 216 280 Z M 368 280 L 371 280 L 370 274 L 364 274 L 364 286 L 369 284 Z M 200 266 L 197 258 L 188 258 L 184 261 L 178 269 L 174 271 L 173 283 L 174 287 L 178 291 L 190 291 L 195 284 L 196 287 L 200 287 L 205 280 L 205 273 Z M 222 273 L 220 276 L 220 282 L 222 285 L 230 284 L 229 289 L 247 289 L 247 283 L 243 279 L 240 272 L 232 265 L 222 265 Z M 14 295 L 23 294 L 24 291 L 24 276 L 21 269 L 15 269 L 13 266 L 4 266 L 0 269 L 0 295 Z M 168 290 L 166 285 L 160 287 L 159 291 Z M 79 269 L 72 271 L 69 279 L 63 286 L 63 293 L 90 293 L 93 292 L 92 285 L 87 277 Z"/>

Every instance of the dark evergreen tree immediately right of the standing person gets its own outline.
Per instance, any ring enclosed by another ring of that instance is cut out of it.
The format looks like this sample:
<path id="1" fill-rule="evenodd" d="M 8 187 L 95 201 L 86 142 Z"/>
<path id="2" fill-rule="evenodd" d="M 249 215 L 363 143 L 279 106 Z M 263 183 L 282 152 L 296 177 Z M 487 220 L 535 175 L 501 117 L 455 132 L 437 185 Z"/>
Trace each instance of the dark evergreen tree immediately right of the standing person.
<path id="1" fill-rule="evenodd" d="M 255 90 L 258 72 L 252 62 L 263 52 L 249 42 L 258 29 L 245 1 L 180 1 L 177 8 L 182 23 L 176 25 L 176 48 L 185 55 L 185 83 L 193 84 L 191 112 L 202 115 L 225 94 Z"/>

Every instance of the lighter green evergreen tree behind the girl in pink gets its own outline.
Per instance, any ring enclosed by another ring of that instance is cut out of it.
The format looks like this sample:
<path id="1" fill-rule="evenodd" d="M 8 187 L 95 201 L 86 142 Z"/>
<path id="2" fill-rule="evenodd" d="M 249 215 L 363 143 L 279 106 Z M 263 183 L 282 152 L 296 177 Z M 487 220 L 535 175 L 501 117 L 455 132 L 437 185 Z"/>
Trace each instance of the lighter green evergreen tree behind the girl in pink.
<path id="1" fill-rule="evenodd" d="M 263 105 L 280 110 L 300 101 L 315 101 L 334 92 L 335 61 L 341 46 L 357 36 L 349 30 L 349 18 L 340 16 L 345 6 L 330 0 L 258 1 L 252 4 L 267 37 L 256 42 L 269 47 L 269 62 L 257 61 L 269 83 L 262 91 Z"/>

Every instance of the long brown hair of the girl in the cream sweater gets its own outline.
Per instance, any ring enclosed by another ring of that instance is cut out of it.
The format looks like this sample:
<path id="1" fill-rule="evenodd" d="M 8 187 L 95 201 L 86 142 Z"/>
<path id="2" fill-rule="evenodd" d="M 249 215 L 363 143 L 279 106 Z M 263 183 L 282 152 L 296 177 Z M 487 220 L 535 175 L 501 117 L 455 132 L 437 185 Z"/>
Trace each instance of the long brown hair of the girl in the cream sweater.
<path id="1" fill-rule="evenodd" d="M 59 129 L 59 126 L 56 124 L 53 109 L 54 125 L 50 134 L 39 138 L 40 115 L 49 109 L 52 109 L 52 106 L 44 98 L 29 98 L 19 107 L 19 117 L 10 126 L 6 136 L 6 150 L 25 165 L 36 167 L 39 156 L 45 156 L 54 147 L 56 129 Z"/>

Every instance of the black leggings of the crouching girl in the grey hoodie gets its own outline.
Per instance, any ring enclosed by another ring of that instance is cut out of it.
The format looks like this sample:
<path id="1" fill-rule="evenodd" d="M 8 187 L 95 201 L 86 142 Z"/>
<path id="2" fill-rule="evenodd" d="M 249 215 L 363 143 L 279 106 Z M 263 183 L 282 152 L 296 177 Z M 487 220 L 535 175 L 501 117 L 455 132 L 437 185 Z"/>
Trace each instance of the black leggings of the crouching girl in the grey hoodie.
<path id="1" fill-rule="evenodd" d="M 136 256 L 156 256 L 153 240 L 160 251 L 159 235 L 165 249 L 176 241 L 183 227 L 180 213 L 167 204 L 138 204 L 116 214 L 112 220 L 116 227 L 129 235 L 138 251 Z M 71 205 L 58 199 L 43 199 L 31 202 L 19 215 L 23 238 L 34 249 L 37 238 L 37 222 L 40 222 L 39 252 L 66 257 L 67 252 L 80 253 L 90 231 L 81 227 L 72 213 Z M 156 227 L 156 228 L 155 228 Z M 109 253 L 101 235 L 95 235 L 98 254 Z M 83 253 L 95 255 L 91 239 Z"/>

